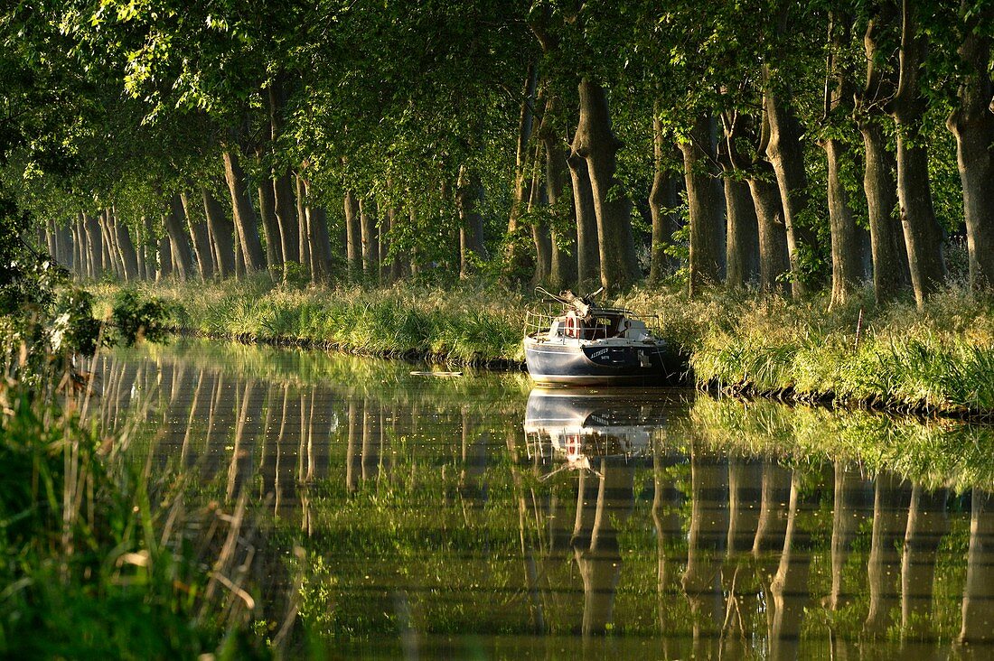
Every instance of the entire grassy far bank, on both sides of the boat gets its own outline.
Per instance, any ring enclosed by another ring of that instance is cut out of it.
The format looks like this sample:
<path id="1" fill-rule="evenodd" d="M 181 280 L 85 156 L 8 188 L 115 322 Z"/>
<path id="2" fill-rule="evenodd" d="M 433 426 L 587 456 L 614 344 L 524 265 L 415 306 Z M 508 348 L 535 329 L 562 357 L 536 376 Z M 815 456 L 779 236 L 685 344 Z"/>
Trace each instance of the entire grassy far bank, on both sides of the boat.
<path id="1" fill-rule="evenodd" d="M 306 344 L 461 365 L 520 365 L 535 299 L 500 289 L 296 289 L 267 278 L 142 285 L 173 304 L 177 328 L 212 337 Z M 94 289 L 108 301 L 116 288 Z M 614 301 L 661 316 L 663 336 L 690 356 L 689 378 L 742 394 L 915 412 L 994 413 L 994 302 L 966 288 L 879 307 L 858 293 L 829 310 L 713 291 L 635 290 Z"/>

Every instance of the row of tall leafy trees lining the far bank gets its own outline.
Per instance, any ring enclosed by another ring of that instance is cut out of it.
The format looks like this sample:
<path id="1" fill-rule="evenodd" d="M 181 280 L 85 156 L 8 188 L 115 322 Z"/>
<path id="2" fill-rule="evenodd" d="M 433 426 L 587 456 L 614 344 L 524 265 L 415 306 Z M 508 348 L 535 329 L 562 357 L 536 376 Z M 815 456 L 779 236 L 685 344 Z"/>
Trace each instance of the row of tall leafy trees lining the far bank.
<path id="1" fill-rule="evenodd" d="M 0 180 L 91 277 L 921 304 L 949 234 L 994 283 L 992 34 L 984 0 L 21 3 Z"/>

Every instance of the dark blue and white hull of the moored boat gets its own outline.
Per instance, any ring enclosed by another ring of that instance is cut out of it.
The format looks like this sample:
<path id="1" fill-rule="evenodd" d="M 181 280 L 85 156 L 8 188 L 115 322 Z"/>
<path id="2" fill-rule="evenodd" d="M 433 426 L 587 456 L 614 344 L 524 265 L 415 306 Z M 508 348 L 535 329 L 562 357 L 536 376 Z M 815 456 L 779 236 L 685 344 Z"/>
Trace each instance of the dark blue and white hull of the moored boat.
<path id="1" fill-rule="evenodd" d="M 540 384 L 663 386 L 680 381 L 680 361 L 661 344 L 525 342 L 525 363 Z"/>

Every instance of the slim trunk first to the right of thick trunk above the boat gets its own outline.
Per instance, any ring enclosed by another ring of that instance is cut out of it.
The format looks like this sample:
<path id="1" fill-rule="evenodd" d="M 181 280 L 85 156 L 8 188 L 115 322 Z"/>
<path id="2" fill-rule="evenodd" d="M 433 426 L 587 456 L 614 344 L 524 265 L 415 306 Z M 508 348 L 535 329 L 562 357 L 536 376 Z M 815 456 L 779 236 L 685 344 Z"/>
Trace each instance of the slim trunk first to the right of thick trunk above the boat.
<path id="1" fill-rule="evenodd" d="M 666 253 L 672 243 L 673 233 L 680 229 L 680 217 L 676 208 L 680 205 L 680 184 L 678 173 L 668 165 L 663 145 L 663 122 L 657 111 L 652 118 L 652 145 L 655 157 L 655 174 L 652 190 L 649 192 L 649 213 L 652 216 L 652 246 L 649 257 L 649 283 L 659 284 L 680 267 L 676 257 Z M 682 158 L 681 154 L 681 158 Z"/>

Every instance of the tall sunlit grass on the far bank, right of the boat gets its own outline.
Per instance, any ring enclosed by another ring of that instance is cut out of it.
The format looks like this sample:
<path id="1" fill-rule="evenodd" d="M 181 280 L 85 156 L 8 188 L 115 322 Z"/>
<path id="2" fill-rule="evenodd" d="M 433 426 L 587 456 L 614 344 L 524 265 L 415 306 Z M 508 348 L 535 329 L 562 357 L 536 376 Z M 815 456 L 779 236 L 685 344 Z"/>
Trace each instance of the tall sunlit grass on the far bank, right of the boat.
<path id="1" fill-rule="evenodd" d="M 832 398 L 856 405 L 994 413 L 994 298 L 950 285 L 918 312 L 872 292 L 829 308 L 714 292 L 697 301 L 636 291 L 621 301 L 663 315 L 699 384 L 735 392 Z"/>

